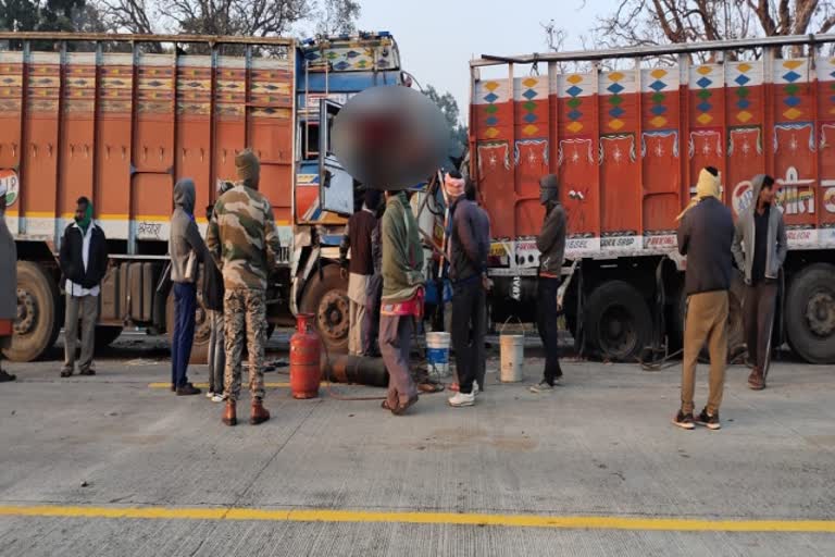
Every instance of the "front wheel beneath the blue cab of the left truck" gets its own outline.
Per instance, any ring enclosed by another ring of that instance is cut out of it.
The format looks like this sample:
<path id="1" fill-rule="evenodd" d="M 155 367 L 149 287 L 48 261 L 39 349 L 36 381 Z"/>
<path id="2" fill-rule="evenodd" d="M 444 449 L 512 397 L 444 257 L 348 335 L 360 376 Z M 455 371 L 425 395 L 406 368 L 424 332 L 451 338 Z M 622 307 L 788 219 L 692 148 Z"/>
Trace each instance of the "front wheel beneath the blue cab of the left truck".
<path id="1" fill-rule="evenodd" d="M 348 281 L 338 265 L 325 267 L 321 276 L 319 272 L 311 275 L 299 309 L 316 317 L 316 332 L 329 352 L 348 351 Z"/>

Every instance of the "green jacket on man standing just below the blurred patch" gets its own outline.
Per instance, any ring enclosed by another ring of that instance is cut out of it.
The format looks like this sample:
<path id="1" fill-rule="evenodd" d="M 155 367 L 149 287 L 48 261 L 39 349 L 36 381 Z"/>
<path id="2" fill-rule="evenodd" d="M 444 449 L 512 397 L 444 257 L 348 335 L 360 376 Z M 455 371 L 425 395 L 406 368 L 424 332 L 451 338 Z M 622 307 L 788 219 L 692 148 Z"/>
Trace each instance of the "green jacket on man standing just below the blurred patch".
<path id="1" fill-rule="evenodd" d="M 406 301 L 424 284 L 423 247 L 406 193 L 386 201 L 382 230 L 383 301 Z"/>

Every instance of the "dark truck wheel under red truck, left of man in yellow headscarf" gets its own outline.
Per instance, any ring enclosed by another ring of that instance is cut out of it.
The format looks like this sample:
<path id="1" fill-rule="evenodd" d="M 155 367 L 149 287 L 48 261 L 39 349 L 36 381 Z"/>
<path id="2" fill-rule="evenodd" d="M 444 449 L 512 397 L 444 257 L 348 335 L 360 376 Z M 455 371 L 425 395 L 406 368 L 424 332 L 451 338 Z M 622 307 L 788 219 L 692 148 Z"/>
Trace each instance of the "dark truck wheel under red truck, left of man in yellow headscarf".
<path id="1" fill-rule="evenodd" d="M 628 283 L 610 281 L 588 297 L 586 338 L 606 360 L 634 362 L 652 334 L 652 317 L 644 297 Z"/>

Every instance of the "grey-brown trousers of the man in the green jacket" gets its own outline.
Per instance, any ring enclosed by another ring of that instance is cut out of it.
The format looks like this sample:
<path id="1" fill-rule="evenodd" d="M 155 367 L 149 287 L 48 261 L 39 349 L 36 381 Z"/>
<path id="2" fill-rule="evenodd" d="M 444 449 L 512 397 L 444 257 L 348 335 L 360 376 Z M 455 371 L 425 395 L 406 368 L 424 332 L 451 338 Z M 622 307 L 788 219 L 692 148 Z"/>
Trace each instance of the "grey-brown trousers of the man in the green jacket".
<path id="1" fill-rule="evenodd" d="M 418 395 L 409 372 L 409 350 L 412 344 L 411 315 L 379 317 L 379 351 L 388 370 L 388 406 L 395 408 Z"/>

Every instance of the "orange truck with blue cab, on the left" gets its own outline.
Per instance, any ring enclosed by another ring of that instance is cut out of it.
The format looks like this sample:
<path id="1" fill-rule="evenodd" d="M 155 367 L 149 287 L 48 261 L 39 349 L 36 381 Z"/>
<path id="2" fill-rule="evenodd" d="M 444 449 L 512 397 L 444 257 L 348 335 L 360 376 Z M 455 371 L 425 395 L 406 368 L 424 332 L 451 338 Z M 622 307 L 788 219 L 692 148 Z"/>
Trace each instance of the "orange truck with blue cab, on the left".
<path id="1" fill-rule="evenodd" d="M 331 151 L 328 131 L 357 92 L 411 83 L 387 32 L 303 41 L 0 33 L 0 181 L 18 253 L 5 356 L 34 360 L 57 341 L 64 306 L 57 253 L 80 196 L 92 201 L 110 251 L 97 344 L 124 327 L 170 332 L 173 186 L 194 178 L 204 232 L 204 208 L 219 182 L 235 180 L 245 147 L 261 160 L 261 191 L 283 246 L 269 284 L 270 324 L 315 313 L 328 348 L 344 348 L 347 283 L 336 262 L 358 184 Z M 205 314 L 198 307 L 196 359 L 209 341 Z"/>

